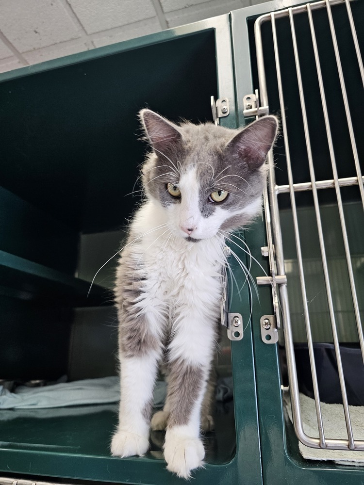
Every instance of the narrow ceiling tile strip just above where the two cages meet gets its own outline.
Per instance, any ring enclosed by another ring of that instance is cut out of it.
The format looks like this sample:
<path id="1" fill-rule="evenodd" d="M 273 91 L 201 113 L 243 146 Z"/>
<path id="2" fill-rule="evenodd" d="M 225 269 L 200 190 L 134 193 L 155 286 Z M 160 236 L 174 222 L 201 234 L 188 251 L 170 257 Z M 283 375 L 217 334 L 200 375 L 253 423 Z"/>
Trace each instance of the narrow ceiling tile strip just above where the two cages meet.
<path id="1" fill-rule="evenodd" d="M 185 25 L 204 18 L 214 17 L 216 15 L 227 14 L 231 10 L 236 10 L 242 7 L 240 0 L 233 0 L 221 2 L 220 0 L 212 0 L 209 2 L 200 3 L 192 7 L 186 7 L 182 10 L 176 10 L 165 14 L 165 18 L 169 27 L 177 27 Z"/>

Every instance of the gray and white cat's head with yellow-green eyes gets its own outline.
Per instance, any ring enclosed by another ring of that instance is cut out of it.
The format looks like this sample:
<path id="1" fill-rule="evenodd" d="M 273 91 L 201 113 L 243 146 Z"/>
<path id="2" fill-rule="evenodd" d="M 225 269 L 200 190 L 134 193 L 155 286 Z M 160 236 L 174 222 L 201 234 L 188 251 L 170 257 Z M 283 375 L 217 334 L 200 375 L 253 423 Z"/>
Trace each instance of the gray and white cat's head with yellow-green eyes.
<path id="1" fill-rule="evenodd" d="M 150 110 L 139 114 L 152 148 L 143 186 L 165 209 L 172 233 L 198 242 L 243 227 L 260 212 L 275 116 L 232 130 L 175 125 Z"/>

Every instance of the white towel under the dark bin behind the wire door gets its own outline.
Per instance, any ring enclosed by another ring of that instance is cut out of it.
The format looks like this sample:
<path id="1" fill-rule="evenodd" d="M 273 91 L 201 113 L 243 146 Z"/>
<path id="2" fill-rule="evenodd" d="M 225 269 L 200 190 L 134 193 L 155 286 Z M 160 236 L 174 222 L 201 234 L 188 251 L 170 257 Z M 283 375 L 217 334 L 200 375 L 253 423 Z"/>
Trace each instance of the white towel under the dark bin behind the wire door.
<path id="1" fill-rule="evenodd" d="M 308 436 L 318 438 L 317 418 L 314 399 L 299 394 L 303 430 Z M 292 421 L 292 410 L 289 398 L 285 396 L 285 408 Z M 351 426 L 354 439 L 364 439 L 364 406 L 349 406 Z M 326 438 L 347 439 L 344 410 L 342 404 L 321 403 L 324 433 Z M 298 442 L 301 455 L 308 460 L 333 460 L 342 465 L 364 465 L 364 452 L 352 450 L 326 450 L 310 448 Z"/>

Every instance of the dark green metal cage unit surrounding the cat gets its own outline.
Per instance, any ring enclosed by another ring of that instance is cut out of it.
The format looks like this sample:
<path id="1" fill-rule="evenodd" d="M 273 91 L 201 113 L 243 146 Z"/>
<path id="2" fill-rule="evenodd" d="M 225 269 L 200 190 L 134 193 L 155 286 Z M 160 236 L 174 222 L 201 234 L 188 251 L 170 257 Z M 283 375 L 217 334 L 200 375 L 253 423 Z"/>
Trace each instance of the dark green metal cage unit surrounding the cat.
<path id="1" fill-rule="evenodd" d="M 264 215 L 242 233 L 250 255 L 231 243 L 257 294 L 247 285 L 229 289 L 244 336 L 223 340 L 218 370 L 232 377 L 233 400 L 216 405 L 206 466 L 194 477 L 201 484 L 363 483 L 363 466 L 307 459 L 299 448 L 300 441 L 363 448 L 340 366 L 345 345 L 363 355 L 363 6 L 268 2 L 0 75 L 0 384 L 116 374 L 113 259 L 87 293 L 120 248 L 138 201 L 131 193 L 146 147 L 136 113 L 217 116 L 236 128 L 269 111 L 282 127 L 269 155 Z M 229 113 L 215 112 L 214 103 L 212 112 L 211 97 L 217 105 L 228 100 Z M 245 274 L 231 265 L 241 286 Z M 347 436 L 338 442 L 327 434 L 315 378 L 321 343 L 333 346 L 340 374 Z M 317 436 L 301 416 L 299 345 L 308 356 Z M 362 368 L 363 360 L 354 373 Z M 181 483 L 165 470 L 161 432 L 146 456 L 111 457 L 116 420 L 113 405 L 0 410 L 0 484 Z"/>

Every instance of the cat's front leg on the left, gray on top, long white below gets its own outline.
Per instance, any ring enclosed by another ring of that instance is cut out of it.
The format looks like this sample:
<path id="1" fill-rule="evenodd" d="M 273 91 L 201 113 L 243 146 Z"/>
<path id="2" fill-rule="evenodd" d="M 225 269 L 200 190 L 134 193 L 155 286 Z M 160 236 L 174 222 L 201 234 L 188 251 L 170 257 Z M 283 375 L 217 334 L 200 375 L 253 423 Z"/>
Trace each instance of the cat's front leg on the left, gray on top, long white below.
<path id="1" fill-rule="evenodd" d="M 161 344 L 145 315 L 128 324 L 119 317 L 120 407 L 117 431 L 111 443 L 114 456 L 143 455 L 149 448 L 153 388 Z"/>

